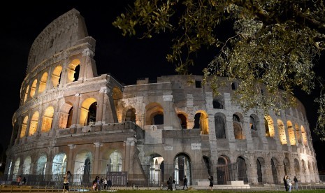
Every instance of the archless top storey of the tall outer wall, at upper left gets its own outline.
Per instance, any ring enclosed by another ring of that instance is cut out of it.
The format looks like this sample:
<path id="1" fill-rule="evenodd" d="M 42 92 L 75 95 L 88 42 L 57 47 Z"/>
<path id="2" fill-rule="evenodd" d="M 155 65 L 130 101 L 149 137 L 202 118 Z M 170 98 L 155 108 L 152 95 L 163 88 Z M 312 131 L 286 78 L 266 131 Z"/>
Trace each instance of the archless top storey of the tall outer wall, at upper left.
<path id="1" fill-rule="evenodd" d="M 71 48 L 88 36 L 84 18 L 78 10 L 69 10 L 48 24 L 37 36 L 29 51 L 27 73 L 33 71 L 43 60 Z"/>

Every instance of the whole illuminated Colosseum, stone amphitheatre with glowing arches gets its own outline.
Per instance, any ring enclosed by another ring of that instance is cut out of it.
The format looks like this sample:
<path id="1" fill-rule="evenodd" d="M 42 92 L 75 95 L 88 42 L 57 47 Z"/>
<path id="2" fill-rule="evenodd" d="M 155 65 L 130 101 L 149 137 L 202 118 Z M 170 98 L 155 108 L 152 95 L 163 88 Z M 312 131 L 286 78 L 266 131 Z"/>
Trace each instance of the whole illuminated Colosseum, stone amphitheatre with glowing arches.
<path id="1" fill-rule="evenodd" d="M 171 176 L 182 185 L 281 184 L 319 181 L 303 104 L 247 113 L 232 99 L 239 82 L 214 96 L 202 76 L 160 76 L 124 85 L 97 74 L 96 41 L 84 18 L 69 10 L 31 45 L 20 106 L 6 152 L 6 178 L 29 184 L 159 186 Z"/>

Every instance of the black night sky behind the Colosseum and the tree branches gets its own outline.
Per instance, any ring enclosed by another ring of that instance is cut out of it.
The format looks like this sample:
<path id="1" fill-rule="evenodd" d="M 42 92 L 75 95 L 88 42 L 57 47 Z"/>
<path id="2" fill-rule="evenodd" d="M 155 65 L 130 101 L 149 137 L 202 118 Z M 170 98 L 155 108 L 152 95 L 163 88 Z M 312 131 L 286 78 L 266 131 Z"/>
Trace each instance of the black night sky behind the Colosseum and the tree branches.
<path id="1" fill-rule="evenodd" d="M 113 27 L 115 17 L 123 13 L 132 1 L 46 2 L 48 1 L 28 1 L 27 5 L 22 6 L 17 1 L 11 1 L 8 6 L 3 6 L 0 13 L 0 77 L 3 85 L 0 143 L 4 149 L 8 147 L 13 129 L 11 118 L 20 102 L 20 86 L 26 76 L 29 48 L 50 22 L 72 8 L 77 9 L 85 18 L 88 34 L 96 40 L 94 59 L 99 74 L 110 73 L 127 85 L 136 83 L 137 78 L 156 79 L 157 76 L 175 74 L 174 64 L 166 61 L 166 54 L 171 52 L 168 35 L 159 34 L 150 40 L 139 40 L 124 37 L 122 31 Z M 192 73 L 201 75 L 201 69 L 212 58 L 212 52 L 199 53 L 196 61 L 198 67 Z M 312 128 L 317 118 L 317 108 L 312 103 L 312 97 L 299 96 L 305 104 Z"/>

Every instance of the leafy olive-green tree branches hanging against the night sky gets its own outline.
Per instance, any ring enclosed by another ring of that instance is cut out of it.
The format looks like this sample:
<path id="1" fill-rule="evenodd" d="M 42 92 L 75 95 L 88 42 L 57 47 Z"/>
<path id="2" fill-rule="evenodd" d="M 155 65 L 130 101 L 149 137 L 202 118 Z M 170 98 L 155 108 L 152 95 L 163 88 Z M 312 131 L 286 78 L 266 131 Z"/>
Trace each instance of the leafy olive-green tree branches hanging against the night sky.
<path id="1" fill-rule="evenodd" d="M 113 25 L 124 36 L 174 35 L 166 58 L 181 74 L 191 73 L 203 46 L 214 48 L 215 59 L 203 70 L 205 81 L 218 94 L 220 77 L 240 80 L 236 96 L 245 110 L 279 113 L 295 105 L 294 89 L 310 94 L 321 88 L 315 131 L 325 139 L 323 80 L 315 70 L 325 52 L 323 0 L 136 0 Z M 226 28 L 231 33 L 225 34 Z"/>

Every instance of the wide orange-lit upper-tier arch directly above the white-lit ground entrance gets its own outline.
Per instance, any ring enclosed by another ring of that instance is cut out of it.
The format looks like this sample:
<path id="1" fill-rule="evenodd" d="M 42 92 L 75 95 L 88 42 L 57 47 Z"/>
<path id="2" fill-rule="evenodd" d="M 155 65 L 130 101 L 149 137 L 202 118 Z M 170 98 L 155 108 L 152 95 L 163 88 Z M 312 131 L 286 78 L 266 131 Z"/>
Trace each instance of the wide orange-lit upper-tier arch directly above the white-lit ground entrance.
<path id="1" fill-rule="evenodd" d="M 147 104 L 147 106 L 145 106 L 145 125 L 161 124 L 161 122 L 164 124 L 164 108 L 161 104 Z"/>

